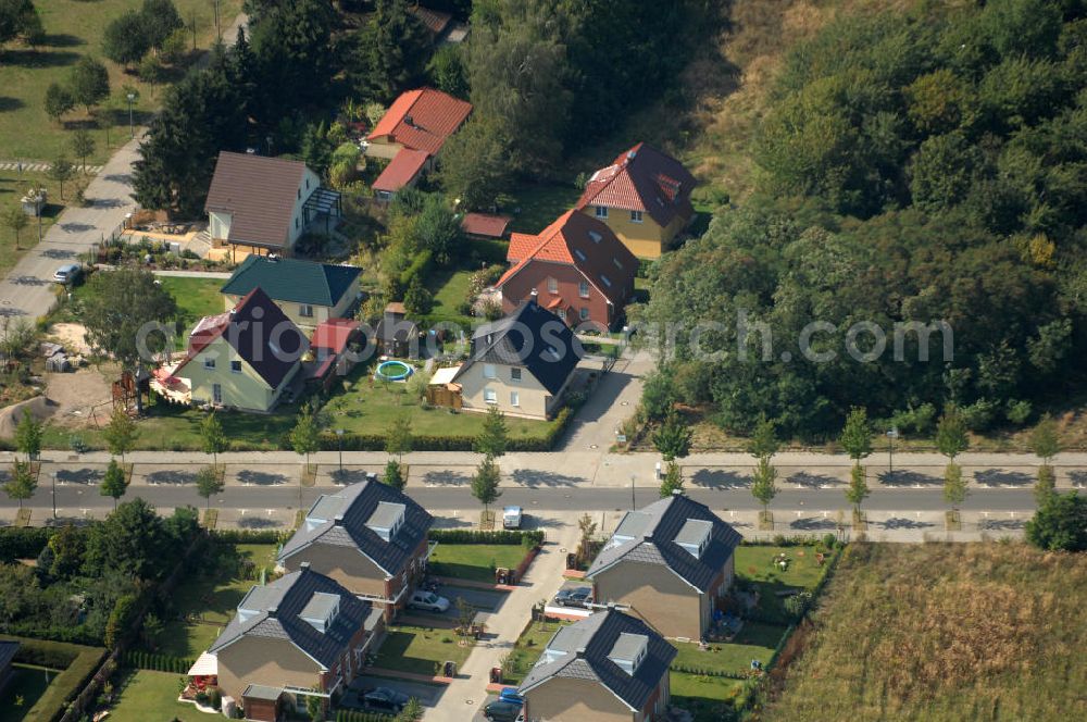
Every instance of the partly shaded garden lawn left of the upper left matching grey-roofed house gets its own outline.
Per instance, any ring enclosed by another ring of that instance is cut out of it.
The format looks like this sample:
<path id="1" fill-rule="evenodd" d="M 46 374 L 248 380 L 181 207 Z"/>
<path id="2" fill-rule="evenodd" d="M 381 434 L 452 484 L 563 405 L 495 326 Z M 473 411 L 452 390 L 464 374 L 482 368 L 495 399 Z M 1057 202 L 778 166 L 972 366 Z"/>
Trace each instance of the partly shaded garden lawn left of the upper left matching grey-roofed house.
<path id="1" fill-rule="evenodd" d="M 258 569 L 275 560 L 275 545 L 233 546 L 241 559 L 253 562 Z M 208 569 L 218 571 L 205 575 L 202 573 L 203 569 L 197 569 L 174 593 L 174 619 L 166 623 L 155 651 L 186 659 L 199 657 L 234 617 L 246 593 L 259 583 L 258 580 L 240 578 L 227 564 L 210 564 Z M 190 619 L 192 615 L 199 615 L 200 619 Z M 176 619 L 178 617 L 186 621 Z"/>

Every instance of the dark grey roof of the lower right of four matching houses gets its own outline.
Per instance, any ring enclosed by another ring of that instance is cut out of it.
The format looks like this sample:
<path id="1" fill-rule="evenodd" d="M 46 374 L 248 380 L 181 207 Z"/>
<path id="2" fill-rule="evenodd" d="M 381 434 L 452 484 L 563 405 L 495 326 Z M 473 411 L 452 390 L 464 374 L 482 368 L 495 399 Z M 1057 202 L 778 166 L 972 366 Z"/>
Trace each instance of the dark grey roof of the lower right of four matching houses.
<path id="1" fill-rule="evenodd" d="M 622 634 L 641 635 L 649 640 L 646 657 L 634 674 L 627 674 L 608 658 Z M 559 644 L 553 647 L 555 642 Z M 548 662 L 547 649 L 570 651 Z M 646 704 L 676 656 L 672 645 L 645 622 L 611 609 L 560 630 L 547 649 L 521 683 L 521 692 L 555 677 L 587 680 L 608 687 L 634 709 Z"/>

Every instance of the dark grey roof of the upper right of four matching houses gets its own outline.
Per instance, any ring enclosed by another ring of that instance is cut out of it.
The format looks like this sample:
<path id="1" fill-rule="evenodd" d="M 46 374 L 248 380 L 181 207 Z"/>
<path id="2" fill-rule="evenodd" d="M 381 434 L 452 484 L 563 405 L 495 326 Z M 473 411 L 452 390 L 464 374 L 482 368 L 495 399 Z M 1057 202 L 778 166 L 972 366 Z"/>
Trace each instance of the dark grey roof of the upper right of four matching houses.
<path id="1" fill-rule="evenodd" d="M 638 518 L 635 514 L 645 516 Z M 680 530 L 691 519 L 713 524 L 709 544 L 701 558 L 695 558 L 676 543 Z M 626 559 L 667 567 L 690 585 L 707 592 L 742 539 L 739 532 L 721 521 L 705 505 L 683 495 L 671 496 L 638 511 L 627 512 L 616 533 L 624 531 L 637 536 L 617 545 L 613 544 L 617 542 L 613 536 L 589 568 L 589 578 L 621 559 Z"/>

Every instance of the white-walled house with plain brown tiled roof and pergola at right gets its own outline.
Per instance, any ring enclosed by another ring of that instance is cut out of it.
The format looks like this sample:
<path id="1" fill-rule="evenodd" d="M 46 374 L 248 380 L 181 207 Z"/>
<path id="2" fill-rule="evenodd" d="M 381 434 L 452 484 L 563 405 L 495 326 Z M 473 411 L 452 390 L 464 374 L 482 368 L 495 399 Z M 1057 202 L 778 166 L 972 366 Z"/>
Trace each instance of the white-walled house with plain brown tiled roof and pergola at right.
<path id="1" fill-rule="evenodd" d="M 215 247 L 260 256 L 289 256 L 303 233 L 327 231 L 327 222 L 341 211 L 339 194 L 323 188 L 305 163 L 225 150 L 204 210 Z"/>

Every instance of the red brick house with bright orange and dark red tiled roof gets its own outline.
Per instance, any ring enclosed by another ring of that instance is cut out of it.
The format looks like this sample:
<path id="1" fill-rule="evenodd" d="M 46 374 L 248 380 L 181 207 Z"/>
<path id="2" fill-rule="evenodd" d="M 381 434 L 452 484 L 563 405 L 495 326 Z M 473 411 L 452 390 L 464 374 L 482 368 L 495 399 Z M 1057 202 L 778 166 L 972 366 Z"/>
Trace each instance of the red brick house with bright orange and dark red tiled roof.
<path id="1" fill-rule="evenodd" d="M 597 219 L 566 211 L 539 235 L 515 233 L 510 262 L 495 286 L 509 313 L 534 292 L 540 306 L 571 326 L 605 332 L 634 297 L 638 259 Z"/>

